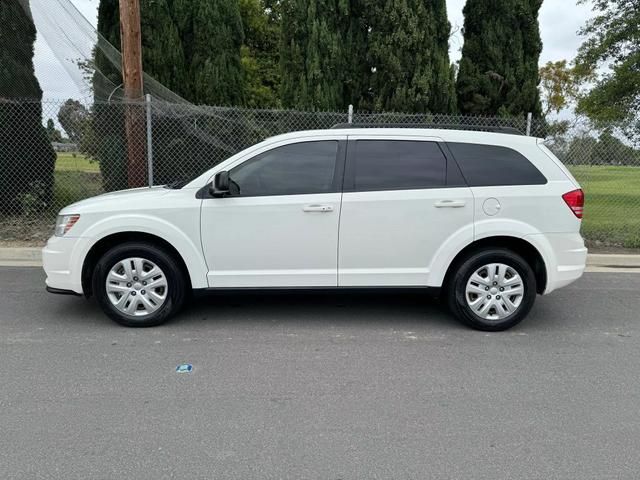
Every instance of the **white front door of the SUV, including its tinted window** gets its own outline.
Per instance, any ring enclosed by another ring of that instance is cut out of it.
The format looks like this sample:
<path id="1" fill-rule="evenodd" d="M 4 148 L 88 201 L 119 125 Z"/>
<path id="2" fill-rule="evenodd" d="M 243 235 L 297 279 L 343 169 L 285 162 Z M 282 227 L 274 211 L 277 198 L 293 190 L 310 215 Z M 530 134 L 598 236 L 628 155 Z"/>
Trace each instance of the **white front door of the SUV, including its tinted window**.
<path id="1" fill-rule="evenodd" d="M 334 287 L 344 142 L 275 146 L 229 170 L 234 193 L 203 200 L 210 287 Z"/>

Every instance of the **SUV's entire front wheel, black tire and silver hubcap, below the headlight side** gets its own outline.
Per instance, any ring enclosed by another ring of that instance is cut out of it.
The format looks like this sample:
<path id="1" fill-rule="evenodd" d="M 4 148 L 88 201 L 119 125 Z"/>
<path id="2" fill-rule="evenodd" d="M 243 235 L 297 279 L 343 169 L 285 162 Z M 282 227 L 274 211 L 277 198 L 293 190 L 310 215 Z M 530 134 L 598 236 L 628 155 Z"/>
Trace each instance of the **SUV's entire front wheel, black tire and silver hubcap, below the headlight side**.
<path id="1" fill-rule="evenodd" d="M 104 312 L 127 327 L 160 325 L 184 302 L 179 265 L 155 245 L 129 242 L 106 252 L 93 272 L 93 291 Z"/>

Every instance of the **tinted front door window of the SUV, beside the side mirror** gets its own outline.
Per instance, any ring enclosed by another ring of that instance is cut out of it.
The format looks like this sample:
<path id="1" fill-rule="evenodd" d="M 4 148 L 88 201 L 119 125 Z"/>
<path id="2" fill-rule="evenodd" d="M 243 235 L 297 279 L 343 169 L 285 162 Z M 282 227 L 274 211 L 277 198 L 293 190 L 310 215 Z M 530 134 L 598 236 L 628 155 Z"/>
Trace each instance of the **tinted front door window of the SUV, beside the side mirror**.
<path id="1" fill-rule="evenodd" d="M 242 196 L 331 192 L 337 152 L 337 141 L 285 145 L 244 162 L 229 176 Z"/>

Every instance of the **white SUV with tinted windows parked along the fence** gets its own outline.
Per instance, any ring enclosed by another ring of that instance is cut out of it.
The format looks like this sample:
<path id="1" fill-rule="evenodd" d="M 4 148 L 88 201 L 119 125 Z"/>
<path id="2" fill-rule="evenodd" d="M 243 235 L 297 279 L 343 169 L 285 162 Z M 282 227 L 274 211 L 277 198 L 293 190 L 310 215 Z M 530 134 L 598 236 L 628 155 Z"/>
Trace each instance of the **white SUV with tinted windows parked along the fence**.
<path id="1" fill-rule="evenodd" d="M 186 185 L 64 208 L 47 289 L 158 325 L 192 290 L 433 288 L 455 316 L 504 330 L 578 279 L 580 186 L 540 139 L 337 128 L 265 140 Z"/>

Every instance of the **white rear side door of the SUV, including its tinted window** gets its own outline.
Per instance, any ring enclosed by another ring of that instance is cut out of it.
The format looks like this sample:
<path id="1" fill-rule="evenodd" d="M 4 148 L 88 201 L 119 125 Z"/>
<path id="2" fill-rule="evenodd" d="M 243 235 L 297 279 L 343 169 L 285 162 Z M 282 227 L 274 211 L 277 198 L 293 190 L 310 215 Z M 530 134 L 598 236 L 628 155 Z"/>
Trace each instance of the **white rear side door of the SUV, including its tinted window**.
<path id="1" fill-rule="evenodd" d="M 427 285 L 438 249 L 473 240 L 473 195 L 441 140 L 350 135 L 340 216 L 340 286 Z"/>

